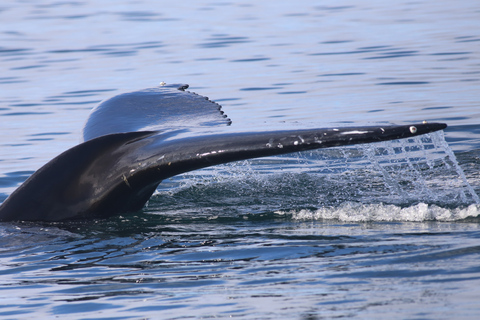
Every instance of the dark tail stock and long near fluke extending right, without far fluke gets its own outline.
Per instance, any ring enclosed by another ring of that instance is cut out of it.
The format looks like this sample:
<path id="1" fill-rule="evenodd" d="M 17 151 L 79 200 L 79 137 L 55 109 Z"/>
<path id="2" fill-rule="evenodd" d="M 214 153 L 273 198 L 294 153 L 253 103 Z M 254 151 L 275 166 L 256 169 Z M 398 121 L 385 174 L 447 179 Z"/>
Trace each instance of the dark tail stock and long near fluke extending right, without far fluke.
<path id="1" fill-rule="evenodd" d="M 184 172 L 297 151 L 408 138 L 445 127 L 430 123 L 178 139 L 150 131 L 110 134 L 81 143 L 40 168 L 0 206 L 0 220 L 105 218 L 140 210 L 162 180 Z"/>

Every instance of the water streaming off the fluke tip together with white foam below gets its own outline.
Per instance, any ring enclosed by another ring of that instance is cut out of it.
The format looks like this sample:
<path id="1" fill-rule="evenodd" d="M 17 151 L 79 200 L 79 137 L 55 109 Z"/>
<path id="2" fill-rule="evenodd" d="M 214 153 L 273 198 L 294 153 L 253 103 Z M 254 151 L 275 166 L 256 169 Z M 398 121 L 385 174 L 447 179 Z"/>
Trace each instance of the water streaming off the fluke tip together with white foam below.
<path id="1" fill-rule="evenodd" d="M 347 201 L 317 210 L 292 210 L 288 213 L 294 220 L 458 221 L 480 215 L 480 199 L 443 131 L 364 145 L 360 150 L 363 155 L 357 154 L 350 161 L 368 158 L 368 166 L 382 176 L 389 188 L 389 199 L 382 203 Z"/>

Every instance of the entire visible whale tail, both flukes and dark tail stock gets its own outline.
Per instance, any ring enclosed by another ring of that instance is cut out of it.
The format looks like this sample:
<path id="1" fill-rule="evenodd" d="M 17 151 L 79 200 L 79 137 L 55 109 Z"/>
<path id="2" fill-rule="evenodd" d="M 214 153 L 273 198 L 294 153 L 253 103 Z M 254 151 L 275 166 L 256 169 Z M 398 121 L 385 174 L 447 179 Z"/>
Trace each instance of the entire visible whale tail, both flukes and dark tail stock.
<path id="1" fill-rule="evenodd" d="M 188 85 L 123 93 L 90 113 L 82 141 L 0 205 L 0 221 L 104 219 L 141 210 L 165 179 L 233 161 L 405 139 L 444 123 L 248 131 Z"/>

